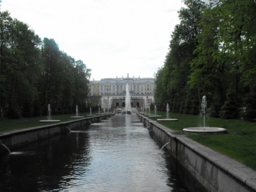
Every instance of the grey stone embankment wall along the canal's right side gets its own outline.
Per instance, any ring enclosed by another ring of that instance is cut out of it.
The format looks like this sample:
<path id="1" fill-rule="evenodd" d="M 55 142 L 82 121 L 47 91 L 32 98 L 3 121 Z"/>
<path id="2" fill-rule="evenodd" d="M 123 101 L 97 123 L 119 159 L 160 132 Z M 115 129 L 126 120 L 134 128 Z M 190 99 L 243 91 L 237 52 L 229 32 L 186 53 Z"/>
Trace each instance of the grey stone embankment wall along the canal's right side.
<path id="1" fill-rule="evenodd" d="M 138 117 L 162 144 L 169 142 L 165 148 L 207 191 L 256 191 L 253 169 L 143 115 Z"/>

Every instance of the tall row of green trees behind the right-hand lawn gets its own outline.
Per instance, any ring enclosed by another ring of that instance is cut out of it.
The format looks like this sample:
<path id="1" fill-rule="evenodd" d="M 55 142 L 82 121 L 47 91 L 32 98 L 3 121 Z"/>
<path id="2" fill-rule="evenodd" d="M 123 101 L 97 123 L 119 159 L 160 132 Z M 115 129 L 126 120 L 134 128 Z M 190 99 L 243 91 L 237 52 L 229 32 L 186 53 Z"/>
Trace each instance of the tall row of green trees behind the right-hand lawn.
<path id="1" fill-rule="evenodd" d="M 256 119 L 256 3 L 184 0 L 180 24 L 155 74 L 155 99 L 172 112 Z"/>

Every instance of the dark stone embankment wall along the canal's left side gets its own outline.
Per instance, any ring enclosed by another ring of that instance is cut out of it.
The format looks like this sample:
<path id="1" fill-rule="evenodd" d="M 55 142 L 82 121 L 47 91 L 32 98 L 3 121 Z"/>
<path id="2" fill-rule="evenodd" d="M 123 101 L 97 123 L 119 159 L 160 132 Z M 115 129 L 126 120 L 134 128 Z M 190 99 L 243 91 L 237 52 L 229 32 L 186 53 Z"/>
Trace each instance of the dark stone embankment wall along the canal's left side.
<path id="1" fill-rule="evenodd" d="M 13 148 L 24 146 L 28 143 L 42 140 L 44 138 L 49 138 L 54 135 L 66 133 L 69 131 L 69 129 L 84 127 L 90 123 L 95 123 L 101 121 L 102 119 L 107 119 L 110 116 L 112 116 L 111 113 L 108 115 L 90 116 L 88 118 L 80 118 L 74 121 L 49 124 L 46 126 L 30 127 L 28 129 L 16 130 L 15 132 L 1 133 L 0 154 L 6 152 L 7 148 L 12 151 Z M 5 146 L 7 146 L 7 148 L 5 148 Z"/>

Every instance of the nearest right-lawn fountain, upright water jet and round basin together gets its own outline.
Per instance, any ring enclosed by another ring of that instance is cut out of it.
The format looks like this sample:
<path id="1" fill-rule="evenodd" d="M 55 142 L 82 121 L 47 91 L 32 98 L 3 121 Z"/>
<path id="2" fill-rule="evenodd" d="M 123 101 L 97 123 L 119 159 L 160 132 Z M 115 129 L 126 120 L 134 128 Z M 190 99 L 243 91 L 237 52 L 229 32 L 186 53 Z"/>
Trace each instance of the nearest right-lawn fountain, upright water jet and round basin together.
<path id="1" fill-rule="evenodd" d="M 185 133 L 226 133 L 226 129 L 219 127 L 205 127 L 205 116 L 207 113 L 206 96 L 202 97 L 201 110 L 203 116 L 203 127 L 188 127 L 183 129 Z"/>

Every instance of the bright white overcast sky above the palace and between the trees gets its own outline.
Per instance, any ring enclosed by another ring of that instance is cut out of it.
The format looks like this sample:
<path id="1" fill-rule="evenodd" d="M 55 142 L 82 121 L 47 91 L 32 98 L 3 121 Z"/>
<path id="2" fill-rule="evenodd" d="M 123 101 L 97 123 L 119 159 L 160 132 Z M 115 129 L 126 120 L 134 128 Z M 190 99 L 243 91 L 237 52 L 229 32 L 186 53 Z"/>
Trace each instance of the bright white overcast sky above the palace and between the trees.
<path id="1" fill-rule="evenodd" d="M 154 77 L 179 24 L 182 0 L 2 0 L 43 40 L 82 60 L 91 79 Z"/>

